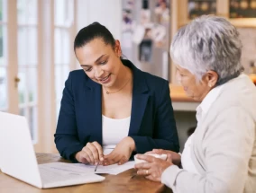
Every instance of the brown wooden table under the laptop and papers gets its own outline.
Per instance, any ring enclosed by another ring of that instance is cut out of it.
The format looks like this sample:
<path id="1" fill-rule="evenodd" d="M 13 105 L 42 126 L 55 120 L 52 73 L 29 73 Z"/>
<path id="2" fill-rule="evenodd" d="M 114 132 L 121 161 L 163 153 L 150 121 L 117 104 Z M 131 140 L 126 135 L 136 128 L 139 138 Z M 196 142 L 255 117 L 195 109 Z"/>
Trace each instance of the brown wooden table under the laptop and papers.
<path id="1" fill-rule="evenodd" d="M 39 164 L 47 162 L 69 162 L 62 159 L 59 154 L 36 154 Z M 119 193 L 119 192 L 169 192 L 165 185 L 160 182 L 146 180 L 136 176 L 132 179 L 134 169 L 124 171 L 118 175 L 104 175 L 105 180 L 99 183 L 77 185 L 56 189 L 37 189 L 21 180 L 16 180 L 0 171 L 0 192 L 2 193 Z"/>

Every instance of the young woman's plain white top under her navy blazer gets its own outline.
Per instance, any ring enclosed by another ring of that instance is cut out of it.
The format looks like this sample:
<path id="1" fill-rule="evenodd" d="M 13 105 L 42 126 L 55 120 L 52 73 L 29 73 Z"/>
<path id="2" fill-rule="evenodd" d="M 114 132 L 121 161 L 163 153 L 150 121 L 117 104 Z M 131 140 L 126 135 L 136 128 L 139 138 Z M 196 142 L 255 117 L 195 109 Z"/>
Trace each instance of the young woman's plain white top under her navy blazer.
<path id="1" fill-rule="evenodd" d="M 129 118 L 107 118 L 102 115 L 102 145 L 104 154 L 110 154 L 114 147 L 128 136 L 131 116 Z"/>

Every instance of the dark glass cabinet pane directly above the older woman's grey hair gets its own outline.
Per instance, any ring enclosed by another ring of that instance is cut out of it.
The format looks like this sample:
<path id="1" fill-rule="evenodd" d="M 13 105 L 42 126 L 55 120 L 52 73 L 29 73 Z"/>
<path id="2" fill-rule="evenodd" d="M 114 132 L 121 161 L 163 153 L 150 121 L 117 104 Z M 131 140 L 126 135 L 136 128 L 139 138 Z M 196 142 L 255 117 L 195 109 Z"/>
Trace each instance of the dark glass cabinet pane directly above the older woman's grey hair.
<path id="1" fill-rule="evenodd" d="M 187 6 L 189 19 L 216 13 L 216 0 L 188 0 Z"/>

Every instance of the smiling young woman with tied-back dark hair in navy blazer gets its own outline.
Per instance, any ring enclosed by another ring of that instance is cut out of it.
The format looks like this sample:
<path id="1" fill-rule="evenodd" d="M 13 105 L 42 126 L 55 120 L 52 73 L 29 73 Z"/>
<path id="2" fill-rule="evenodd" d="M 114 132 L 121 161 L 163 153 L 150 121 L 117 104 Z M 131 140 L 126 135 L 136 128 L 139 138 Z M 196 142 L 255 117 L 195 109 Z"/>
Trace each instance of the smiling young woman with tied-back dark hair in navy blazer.
<path id="1" fill-rule="evenodd" d="M 119 40 L 94 22 L 74 50 L 83 70 L 65 83 L 55 143 L 73 162 L 127 162 L 153 148 L 178 152 L 169 83 L 122 59 Z"/>

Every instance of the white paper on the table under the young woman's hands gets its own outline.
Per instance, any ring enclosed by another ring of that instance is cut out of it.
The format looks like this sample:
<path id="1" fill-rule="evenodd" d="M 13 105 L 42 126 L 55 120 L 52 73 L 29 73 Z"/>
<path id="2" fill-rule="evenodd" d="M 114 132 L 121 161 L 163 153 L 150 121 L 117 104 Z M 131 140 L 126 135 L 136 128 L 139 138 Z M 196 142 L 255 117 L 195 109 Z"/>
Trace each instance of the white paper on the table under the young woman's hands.
<path id="1" fill-rule="evenodd" d="M 125 162 L 123 165 L 113 164 L 108 166 L 83 164 L 83 163 L 67 163 L 67 162 L 50 162 L 40 164 L 39 167 L 47 166 L 52 170 L 69 171 L 74 173 L 108 173 L 117 175 L 123 171 L 127 171 L 134 167 L 135 162 Z M 96 169 L 96 171 L 95 171 Z"/>

